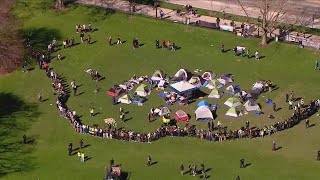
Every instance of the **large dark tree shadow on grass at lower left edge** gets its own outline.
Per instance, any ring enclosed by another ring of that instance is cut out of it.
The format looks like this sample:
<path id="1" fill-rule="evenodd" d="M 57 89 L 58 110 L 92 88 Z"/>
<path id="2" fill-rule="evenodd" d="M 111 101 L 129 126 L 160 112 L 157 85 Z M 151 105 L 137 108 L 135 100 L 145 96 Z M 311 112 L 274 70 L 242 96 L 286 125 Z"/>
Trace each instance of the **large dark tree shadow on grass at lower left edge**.
<path id="1" fill-rule="evenodd" d="M 0 93 L 0 178 L 36 167 L 31 153 L 38 136 L 27 135 L 27 144 L 22 136 L 40 115 L 37 108 L 11 93 Z"/>

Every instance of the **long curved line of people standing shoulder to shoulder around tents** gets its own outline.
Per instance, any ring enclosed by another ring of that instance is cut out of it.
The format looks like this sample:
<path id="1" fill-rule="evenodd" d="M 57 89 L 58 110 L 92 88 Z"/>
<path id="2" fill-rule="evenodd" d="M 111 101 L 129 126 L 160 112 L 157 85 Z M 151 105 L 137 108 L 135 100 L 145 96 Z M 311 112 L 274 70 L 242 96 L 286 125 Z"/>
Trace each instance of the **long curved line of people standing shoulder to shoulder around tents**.
<path id="1" fill-rule="evenodd" d="M 189 126 L 185 123 L 180 128 L 174 122 L 163 124 L 154 132 L 139 133 L 127 130 L 123 127 L 118 128 L 116 124 L 109 124 L 107 127 L 99 127 L 98 125 L 86 125 L 81 123 L 76 111 L 70 110 L 66 105 L 66 97 L 68 96 L 66 84 L 61 77 L 53 71 L 47 70 L 47 76 L 52 80 L 53 90 L 57 93 L 56 107 L 61 117 L 67 119 L 74 130 L 78 133 L 89 134 L 100 138 L 118 139 L 123 141 L 133 141 L 141 143 L 150 143 L 163 137 L 195 137 L 207 141 L 224 141 L 239 138 L 255 138 L 271 135 L 279 131 L 283 131 L 298 124 L 301 120 L 307 119 L 314 114 L 320 107 L 320 100 L 311 101 L 306 107 L 296 110 L 293 115 L 283 122 L 277 122 L 274 125 L 264 126 L 261 128 L 250 128 L 249 122 L 238 130 L 228 130 L 218 122 L 214 127 L 214 122 L 208 125 L 208 130 L 196 129 L 195 126 Z M 306 121 L 307 122 L 307 121 Z"/>

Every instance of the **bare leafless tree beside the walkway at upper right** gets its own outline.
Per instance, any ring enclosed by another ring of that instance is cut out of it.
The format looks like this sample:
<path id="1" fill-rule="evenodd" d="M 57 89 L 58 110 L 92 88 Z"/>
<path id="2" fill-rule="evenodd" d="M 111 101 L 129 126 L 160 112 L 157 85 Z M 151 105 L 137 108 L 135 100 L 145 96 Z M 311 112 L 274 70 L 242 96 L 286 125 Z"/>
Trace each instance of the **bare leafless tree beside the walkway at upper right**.
<path id="1" fill-rule="evenodd" d="M 238 0 L 238 3 L 246 16 L 250 17 L 242 0 Z M 254 7 L 261 17 L 261 21 L 258 22 L 262 30 L 261 45 L 266 45 L 268 33 L 271 34 L 276 29 L 277 24 L 283 20 L 289 11 L 288 0 L 255 0 Z"/>

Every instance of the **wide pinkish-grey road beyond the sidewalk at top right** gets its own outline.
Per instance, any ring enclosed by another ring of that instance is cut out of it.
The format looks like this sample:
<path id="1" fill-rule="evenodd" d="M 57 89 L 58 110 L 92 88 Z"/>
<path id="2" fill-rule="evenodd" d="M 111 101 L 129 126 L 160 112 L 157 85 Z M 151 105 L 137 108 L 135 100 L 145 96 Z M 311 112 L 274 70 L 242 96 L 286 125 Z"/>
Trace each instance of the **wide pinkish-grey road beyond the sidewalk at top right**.
<path id="1" fill-rule="evenodd" d="M 225 11 L 226 13 L 246 16 L 238 0 L 167 0 L 173 4 L 186 5 L 213 11 Z M 279 0 L 280 1 L 280 0 Z M 256 7 L 256 0 L 240 0 L 246 12 L 251 17 L 259 17 L 260 12 Z M 281 22 L 304 25 L 320 29 L 320 0 L 289 0 L 285 7 L 288 15 Z M 315 21 L 312 23 L 312 18 Z"/>

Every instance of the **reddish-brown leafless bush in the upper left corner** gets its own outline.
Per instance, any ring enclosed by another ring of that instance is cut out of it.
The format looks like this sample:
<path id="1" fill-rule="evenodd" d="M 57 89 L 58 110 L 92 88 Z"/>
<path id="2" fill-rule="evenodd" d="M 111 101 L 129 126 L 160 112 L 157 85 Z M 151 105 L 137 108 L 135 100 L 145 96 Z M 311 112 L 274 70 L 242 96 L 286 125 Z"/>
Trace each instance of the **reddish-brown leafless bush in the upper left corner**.
<path id="1" fill-rule="evenodd" d="M 15 1 L 1 0 L 0 6 L 0 75 L 17 69 L 24 55 L 19 22 L 11 14 Z"/>

